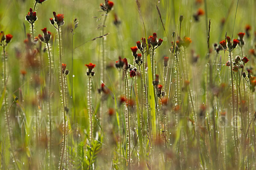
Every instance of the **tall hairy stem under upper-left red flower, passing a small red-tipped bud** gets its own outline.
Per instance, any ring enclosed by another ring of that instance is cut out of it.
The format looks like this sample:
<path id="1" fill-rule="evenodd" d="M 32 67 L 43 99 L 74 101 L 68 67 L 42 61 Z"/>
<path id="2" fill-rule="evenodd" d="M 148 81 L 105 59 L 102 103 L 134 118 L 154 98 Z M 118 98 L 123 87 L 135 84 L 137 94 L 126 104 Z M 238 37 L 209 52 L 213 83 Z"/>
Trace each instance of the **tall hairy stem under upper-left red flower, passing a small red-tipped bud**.
<path id="1" fill-rule="evenodd" d="M 65 144 L 66 144 L 66 113 L 65 113 L 65 102 L 64 102 L 64 85 L 63 85 L 63 74 L 62 74 L 62 62 L 61 62 L 61 33 L 60 33 L 60 27 L 58 26 L 58 40 L 59 40 L 59 57 L 60 57 L 60 74 L 61 74 L 61 93 L 62 93 L 62 101 L 63 102 L 63 116 L 64 116 L 64 136 L 63 136 L 63 146 L 62 146 L 62 153 L 61 153 L 61 161 L 60 161 L 60 167 L 62 168 L 62 161 L 63 156 L 65 152 Z"/>

